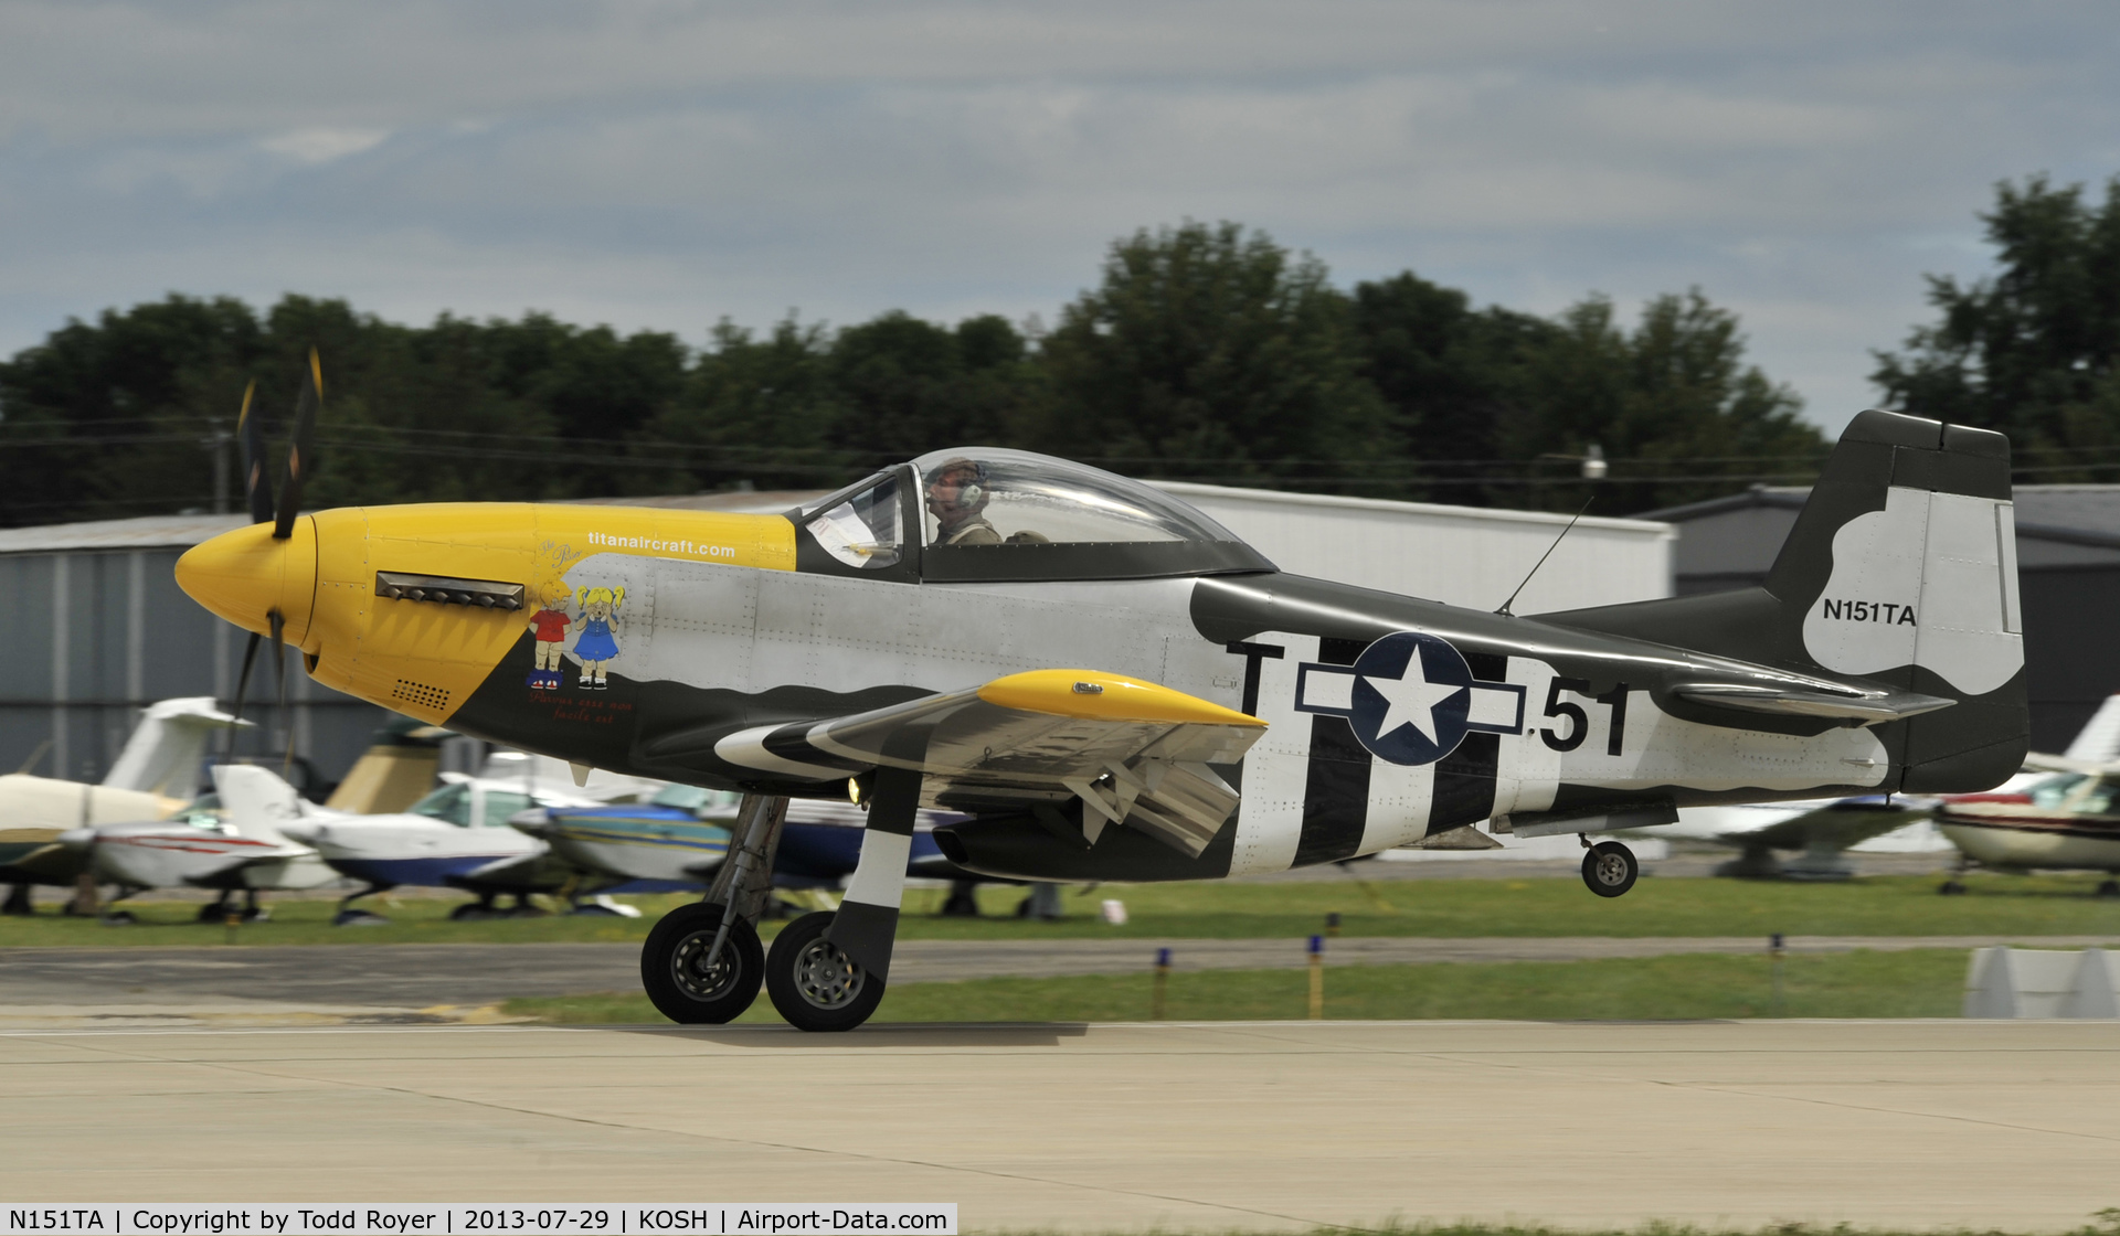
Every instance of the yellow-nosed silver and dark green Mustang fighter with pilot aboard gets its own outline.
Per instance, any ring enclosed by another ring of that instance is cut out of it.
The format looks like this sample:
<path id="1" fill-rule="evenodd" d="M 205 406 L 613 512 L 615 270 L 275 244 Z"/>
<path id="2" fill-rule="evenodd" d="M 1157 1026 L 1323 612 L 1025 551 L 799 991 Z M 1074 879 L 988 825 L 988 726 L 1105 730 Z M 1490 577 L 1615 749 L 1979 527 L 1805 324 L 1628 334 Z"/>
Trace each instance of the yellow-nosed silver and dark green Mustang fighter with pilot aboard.
<path id="1" fill-rule="evenodd" d="M 248 466 L 259 524 L 178 583 L 350 695 L 753 795 L 708 899 L 642 950 L 678 1022 L 727 1022 L 761 979 L 799 1028 L 865 1022 L 922 806 L 967 816 L 935 829 L 960 867 L 1060 882 L 1278 871 L 1507 816 L 1582 835 L 1586 882 L 1620 895 L 1637 863 L 1590 833 L 1984 789 L 2025 757 L 2010 452 L 1978 428 L 1859 413 L 1762 587 L 1518 617 L 1287 575 L 1151 485 L 1013 449 L 787 515 L 299 515 L 310 377 L 278 496 Z M 848 782 L 869 812 L 846 899 L 767 956 L 780 799 Z"/>

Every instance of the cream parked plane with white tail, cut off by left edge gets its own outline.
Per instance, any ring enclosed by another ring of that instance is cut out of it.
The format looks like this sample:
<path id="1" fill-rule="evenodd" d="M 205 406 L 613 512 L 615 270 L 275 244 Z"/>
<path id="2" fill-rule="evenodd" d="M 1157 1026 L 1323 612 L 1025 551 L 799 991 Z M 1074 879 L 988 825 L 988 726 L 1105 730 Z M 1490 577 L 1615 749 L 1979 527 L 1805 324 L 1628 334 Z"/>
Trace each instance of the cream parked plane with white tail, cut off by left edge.
<path id="1" fill-rule="evenodd" d="M 83 873 L 83 852 L 61 846 L 59 833 L 159 820 L 197 797 L 206 742 L 233 723 L 206 695 L 159 700 L 140 712 L 102 784 L 0 776 L 0 882 L 15 884 L 8 912 L 30 912 L 32 884 L 72 886 Z"/>

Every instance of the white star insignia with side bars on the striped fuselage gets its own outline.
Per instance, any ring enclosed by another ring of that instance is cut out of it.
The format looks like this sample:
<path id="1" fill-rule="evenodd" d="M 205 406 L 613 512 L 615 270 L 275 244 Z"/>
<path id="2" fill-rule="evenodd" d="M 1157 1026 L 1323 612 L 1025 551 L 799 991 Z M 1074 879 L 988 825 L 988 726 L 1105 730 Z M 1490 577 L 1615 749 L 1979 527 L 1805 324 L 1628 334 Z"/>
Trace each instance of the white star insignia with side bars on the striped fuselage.
<path id="1" fill-rule="evenodd" d="M 1300 664 L 1295 710 L 1344 717 L 1370 755 L 1418 765 L 1450 755 L 1473 729 L 1522 734 L 1524 687 L 1473 678 L 1442 636 L 1395 632 L 1353 666 Z"/>

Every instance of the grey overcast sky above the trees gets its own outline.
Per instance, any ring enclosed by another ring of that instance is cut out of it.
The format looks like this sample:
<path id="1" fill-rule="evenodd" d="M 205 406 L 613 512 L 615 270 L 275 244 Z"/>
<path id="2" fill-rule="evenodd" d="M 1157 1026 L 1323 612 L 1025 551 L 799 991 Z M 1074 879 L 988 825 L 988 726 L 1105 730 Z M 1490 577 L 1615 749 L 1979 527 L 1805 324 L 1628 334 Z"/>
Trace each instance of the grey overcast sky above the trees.
<path id="1" fill-rule="evenodd" d="M 1189 216 L 1533 312 L 1700 286 L 1838 428 L 1995 180 L 2120 172 L 2116 66 L 2112 0 L 0 0 L 0 352 L 170 290 L 1052 320 Z"/>

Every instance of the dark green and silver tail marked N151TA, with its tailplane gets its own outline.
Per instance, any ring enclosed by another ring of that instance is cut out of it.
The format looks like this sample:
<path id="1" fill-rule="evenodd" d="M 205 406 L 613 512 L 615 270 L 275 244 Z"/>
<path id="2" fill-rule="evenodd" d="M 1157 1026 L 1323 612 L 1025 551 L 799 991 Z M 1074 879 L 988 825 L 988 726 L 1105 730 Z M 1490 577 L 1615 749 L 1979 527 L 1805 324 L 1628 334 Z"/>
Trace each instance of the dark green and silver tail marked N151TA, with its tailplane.
<path id="1" fill-rule="evenodd" d="M 1995 784 L 2029 746 L 2010 443 L 1997 432 L 1863 411 L 1764 585 L 1541 619 L 1889 685 L 1673 691 L 1679 708 L 1753 710 L 1760 729 L 1906 721 L 1880 731 L 1902 770 L 1887 791 Z"/>

